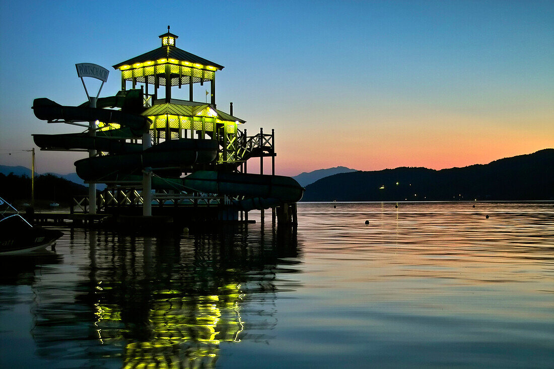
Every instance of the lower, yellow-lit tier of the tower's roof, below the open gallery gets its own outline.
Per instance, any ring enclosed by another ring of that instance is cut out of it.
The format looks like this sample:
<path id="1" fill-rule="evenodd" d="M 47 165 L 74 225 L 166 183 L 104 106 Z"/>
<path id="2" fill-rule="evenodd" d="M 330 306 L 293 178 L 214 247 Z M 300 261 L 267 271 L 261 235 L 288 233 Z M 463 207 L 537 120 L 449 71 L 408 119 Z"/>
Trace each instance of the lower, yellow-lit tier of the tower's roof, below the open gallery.
<path id="1" fill-rule="evenodd" d="M 209 113 L 207 115 L 202 114 L 204 110 Z M 212 104 L 175 99 L 172 99 L 172 102 L 168 102 L 165 104 L 155 104 L 142 112 L 143 116 L 166 114 L 182 116 L 208 116 L 222 121 L 246 123 L 245 120 L 227 114 L 226 112 L 223 112 L 221 110 L 217 110 Z"/>

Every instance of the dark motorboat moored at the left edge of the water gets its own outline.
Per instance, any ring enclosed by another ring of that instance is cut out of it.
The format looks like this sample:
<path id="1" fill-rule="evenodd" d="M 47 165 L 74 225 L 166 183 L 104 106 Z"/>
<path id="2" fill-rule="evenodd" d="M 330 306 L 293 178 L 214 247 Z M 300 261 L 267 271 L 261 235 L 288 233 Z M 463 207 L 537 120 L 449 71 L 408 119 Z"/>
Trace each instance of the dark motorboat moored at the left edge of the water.
<path id="1" fill-rule="evenodd" d="M 16 208 L 0 197 L 0 255 L 17 255 L 54 245 L 59 230 L 33 227 Z"/>

